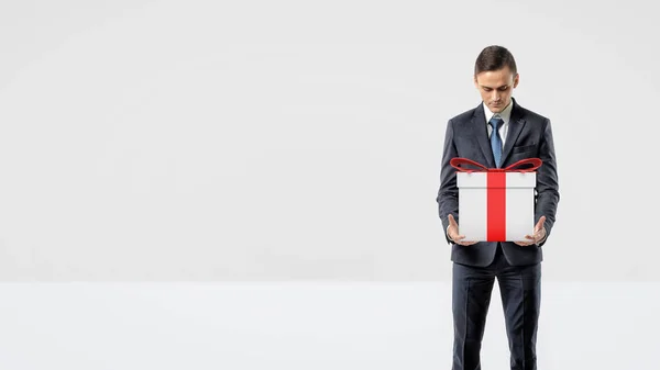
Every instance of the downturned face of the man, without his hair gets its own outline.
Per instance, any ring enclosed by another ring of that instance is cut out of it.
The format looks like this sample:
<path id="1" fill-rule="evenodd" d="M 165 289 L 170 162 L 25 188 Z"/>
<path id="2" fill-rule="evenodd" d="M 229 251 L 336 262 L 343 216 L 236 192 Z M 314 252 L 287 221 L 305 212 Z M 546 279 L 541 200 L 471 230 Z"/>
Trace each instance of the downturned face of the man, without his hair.
<path id="1" fill-rule="evenodd" d="M 512 101 L 514 88 L 518 86 L 518 74 L 514 76 L 509 67 L 484 71 L 474 77 L 474 86 L 491 112 L 499 113 Z"/>

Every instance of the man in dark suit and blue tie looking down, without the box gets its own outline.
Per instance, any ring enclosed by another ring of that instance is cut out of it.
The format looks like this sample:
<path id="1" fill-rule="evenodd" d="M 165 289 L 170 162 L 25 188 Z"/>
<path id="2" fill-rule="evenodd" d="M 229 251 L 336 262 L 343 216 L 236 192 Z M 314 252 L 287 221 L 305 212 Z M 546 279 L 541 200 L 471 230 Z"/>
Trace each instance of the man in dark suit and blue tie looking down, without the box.
<path id="1" fill-rule="evenodd" d="M 474 67 L 474 86 L 482 103 L 447 124 L 437 202 L 447 242 L 452 244 L 453 370 L 481 369 L 481 344 L 495 278 L 504 306 L 510 368 L 537 369 L 541 247 L 554 224 L 559 182 L 550 120 L 512 98 L 518 81 L 516 61 L 508 49 L 484 48 Z M 454 157 L 488 168 L 504 168 L 525 158 L 542 160 L 537 170 L 535 229 L 526 240 L 462 242 L 459 189 L 450 165 Z"/>

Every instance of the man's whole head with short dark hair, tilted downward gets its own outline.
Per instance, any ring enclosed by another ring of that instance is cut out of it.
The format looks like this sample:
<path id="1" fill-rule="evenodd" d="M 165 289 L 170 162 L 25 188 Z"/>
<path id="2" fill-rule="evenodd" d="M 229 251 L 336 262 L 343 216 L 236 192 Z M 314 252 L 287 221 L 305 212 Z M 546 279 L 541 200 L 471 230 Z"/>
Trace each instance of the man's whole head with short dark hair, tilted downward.
<path id="1" fill-rule="evenodd" d="M 491 112 L 502 112 L 512 101 L 518 86 L 516 60 L 503 46 L 484 48 L 474 64 L 474 86 Z"/>

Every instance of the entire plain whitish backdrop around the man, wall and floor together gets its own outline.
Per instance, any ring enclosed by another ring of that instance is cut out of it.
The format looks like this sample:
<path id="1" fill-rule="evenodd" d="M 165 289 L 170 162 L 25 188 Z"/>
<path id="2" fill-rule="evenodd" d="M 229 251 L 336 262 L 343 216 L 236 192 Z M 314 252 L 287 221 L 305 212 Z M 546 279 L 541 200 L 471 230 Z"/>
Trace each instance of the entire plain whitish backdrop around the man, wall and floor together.
<path id="1" fill-rule="evenodd" d="M 449 368 L 443 134 L 492 44 L 556 139 L 539 367 L 657 368 L 653 7 L 1 1 L 0 369 Z"/>

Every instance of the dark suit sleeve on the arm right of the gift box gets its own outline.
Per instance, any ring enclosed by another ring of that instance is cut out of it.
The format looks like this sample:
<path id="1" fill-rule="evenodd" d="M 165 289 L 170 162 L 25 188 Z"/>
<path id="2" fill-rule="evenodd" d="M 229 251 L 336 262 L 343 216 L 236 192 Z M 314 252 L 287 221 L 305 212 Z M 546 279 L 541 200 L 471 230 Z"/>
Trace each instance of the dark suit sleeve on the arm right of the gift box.
<path id="1" fill-rule="evenodd" d="M 552 138 L 550 120 L 546 120 L 544 122 L 539 145 L 539 158 L 541 158 L 543 164 L 537 170 L 535 225 L 541 216 L 546 216 L 546 238 L 539 243 L 539 247 L 542 247 L 552 232 L 557 205 L 559 204 L 559 178 L 557 175 L 557 157 L 554 155 L 554 141 Z"/>

